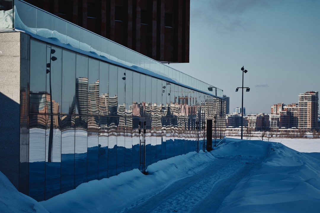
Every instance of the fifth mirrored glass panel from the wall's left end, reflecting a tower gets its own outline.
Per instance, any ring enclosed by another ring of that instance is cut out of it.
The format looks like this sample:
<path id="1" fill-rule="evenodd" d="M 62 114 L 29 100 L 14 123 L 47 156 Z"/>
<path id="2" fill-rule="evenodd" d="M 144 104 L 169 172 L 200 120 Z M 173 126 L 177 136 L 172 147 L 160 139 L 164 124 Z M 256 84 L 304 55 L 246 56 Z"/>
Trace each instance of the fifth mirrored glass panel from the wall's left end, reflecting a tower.
<path id="1" fill-rule="evenodd" d="M 89 58 L 88 181 L 98 179 L 99 61 Z"/>

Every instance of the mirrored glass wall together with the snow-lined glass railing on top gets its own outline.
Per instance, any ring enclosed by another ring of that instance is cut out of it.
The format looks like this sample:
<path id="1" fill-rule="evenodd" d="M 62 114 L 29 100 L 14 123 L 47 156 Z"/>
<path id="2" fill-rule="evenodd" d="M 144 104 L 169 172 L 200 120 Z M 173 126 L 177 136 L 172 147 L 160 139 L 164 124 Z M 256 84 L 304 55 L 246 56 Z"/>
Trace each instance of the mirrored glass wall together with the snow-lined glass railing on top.
<path id="1" fill-rule="evenodd" d="M 14 25 L 30 35 L 29 78 L 21 78 L 29 84 L 28 104 L 20 105 L 28 115 L 20 120 L 27 129 L 20 137 L 28 138 L 25 194 L 46 200 L 90 180 L 145 172 L 159 160 L 205 150 L 208 138 L 224 138 L 222 90 L 14 4 Z"/>

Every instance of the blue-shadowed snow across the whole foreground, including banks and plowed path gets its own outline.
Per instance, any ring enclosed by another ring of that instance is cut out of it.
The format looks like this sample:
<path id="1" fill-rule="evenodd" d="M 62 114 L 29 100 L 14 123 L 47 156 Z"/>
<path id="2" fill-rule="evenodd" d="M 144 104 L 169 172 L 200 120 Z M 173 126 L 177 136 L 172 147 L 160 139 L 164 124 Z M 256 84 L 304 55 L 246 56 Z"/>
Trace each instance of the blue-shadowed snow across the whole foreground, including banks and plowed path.
<path id="1" fill-rule="evenodd" d="M 83 183 L 43 202 L 19 193 L 0 173 L 0 210 L 54 213 L 320 209 L 319 139 L 282 138 L 267 142 L 227 138 L 211 152 L 172 157 L 147 170 L 148 175 L 135 169 Z"/>

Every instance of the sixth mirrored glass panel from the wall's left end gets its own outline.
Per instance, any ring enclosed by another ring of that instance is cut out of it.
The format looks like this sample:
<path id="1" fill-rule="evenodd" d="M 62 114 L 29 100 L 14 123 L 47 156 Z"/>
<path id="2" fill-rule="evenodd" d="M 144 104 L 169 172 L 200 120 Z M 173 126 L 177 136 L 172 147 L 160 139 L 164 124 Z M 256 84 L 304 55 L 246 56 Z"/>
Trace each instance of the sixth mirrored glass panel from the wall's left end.
<path id="1" fill-rule="evenodd" d="M 98 179 L 108 177 L 109 64 L 100 61 Z"/>

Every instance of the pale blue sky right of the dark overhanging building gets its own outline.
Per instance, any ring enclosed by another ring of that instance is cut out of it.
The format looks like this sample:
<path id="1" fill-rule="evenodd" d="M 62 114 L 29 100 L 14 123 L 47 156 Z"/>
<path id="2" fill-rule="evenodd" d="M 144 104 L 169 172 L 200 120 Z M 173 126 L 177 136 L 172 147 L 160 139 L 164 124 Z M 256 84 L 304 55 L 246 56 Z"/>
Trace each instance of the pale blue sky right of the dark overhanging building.
<path id="1" fill-rule="evenodd" d="M 270 113 L 320 92 L 320 0 L 191 0 L 190 63 L 169 66 L 223 89 L 230 113 Z"/>

